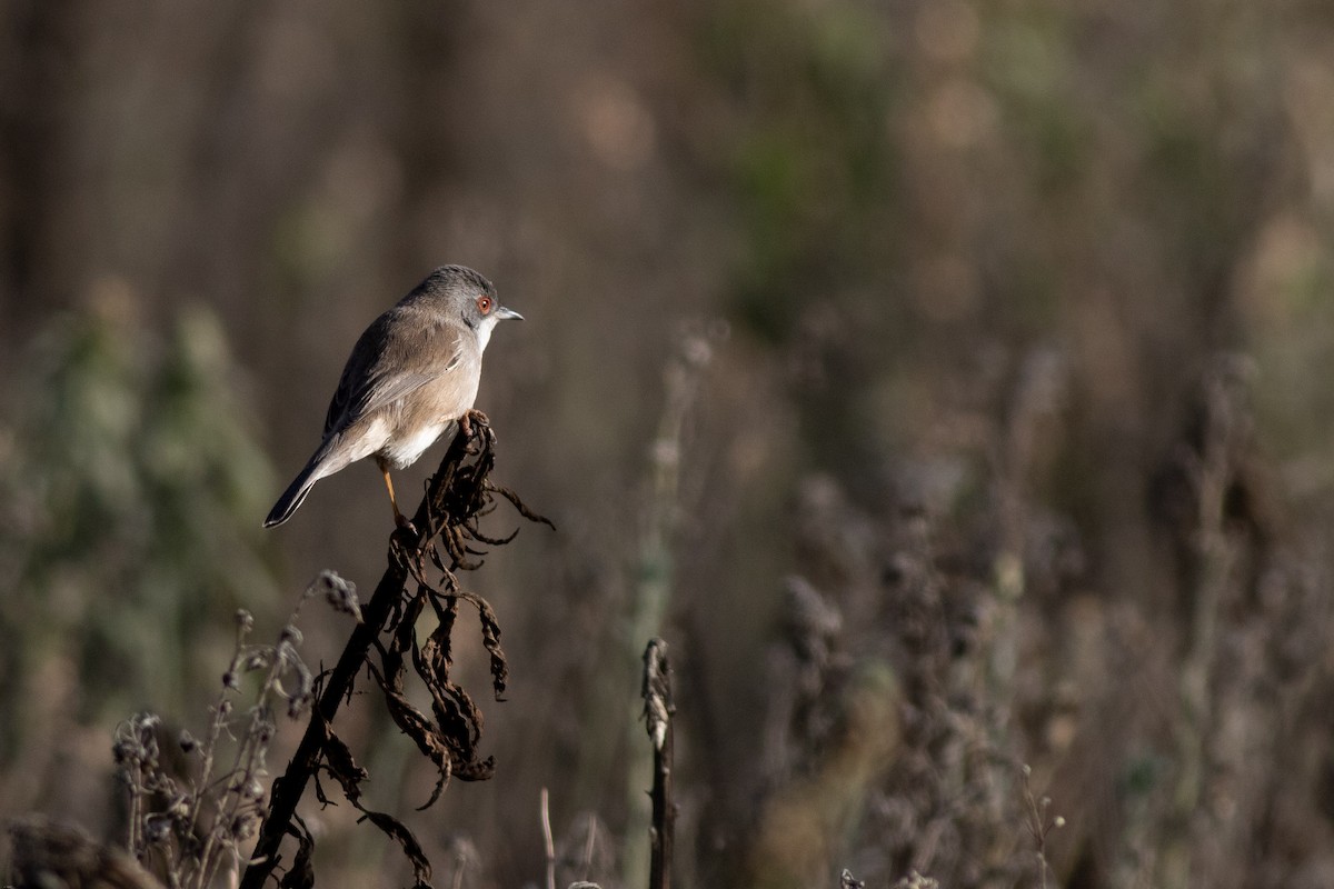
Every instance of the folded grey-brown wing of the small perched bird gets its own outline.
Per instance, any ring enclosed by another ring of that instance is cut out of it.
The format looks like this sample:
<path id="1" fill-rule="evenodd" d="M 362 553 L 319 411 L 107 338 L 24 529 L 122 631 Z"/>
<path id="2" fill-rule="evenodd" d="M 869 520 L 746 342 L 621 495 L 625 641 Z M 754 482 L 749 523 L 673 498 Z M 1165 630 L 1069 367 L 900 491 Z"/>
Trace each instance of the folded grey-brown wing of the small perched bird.
<path id="1" fill-rule="evenodd" d="M 438 320 L 396 317 L 394 309 L 378 317 L 343 368 L 324 417 L 324 437 L 458 368 L 462 333 Z"/>

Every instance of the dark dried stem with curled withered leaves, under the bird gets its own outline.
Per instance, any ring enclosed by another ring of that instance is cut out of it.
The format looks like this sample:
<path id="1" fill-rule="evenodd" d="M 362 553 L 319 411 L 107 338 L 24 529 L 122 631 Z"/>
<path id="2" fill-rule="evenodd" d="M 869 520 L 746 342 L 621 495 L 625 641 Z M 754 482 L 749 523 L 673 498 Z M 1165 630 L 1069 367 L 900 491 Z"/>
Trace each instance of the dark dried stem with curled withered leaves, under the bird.
<path id="1" fill-rule="evenodd" d="M 390 814 L 363 808 L 360 784 L 367 773 L 356 765 L 351 750 L 332 729 L 334 717 L 348 700 L 356 674 L 363 668 L 384 694 L 390 716 L 399 729 L 436 765 L 439 780 L 422 808 L 439 798 L 450 777 L 475 781 L 486 780 L 494 772 L 494 762 L 479 760 L 476 754 L 482 712 L 471 696 L 450 678 L 450 634 L 459 602 L 475 606 L 483 644 L 491 657 L 492 690 L 500 700 L 507 678 L 500 625 L 487 601 L 463 590 L 454 572 L 482 564 L 484 550 L 474 544 L 499 545 L 514 537 L 491 538 L 478 526 L 480 517 L 492 509 L 495 496 L 519 506 L 520 514 L 530 520 L 551 522 L 524 508 L 514 492 L 491 484 L 488 474 L 495 465 L 495 435 L 480 413 L 474 412 L 470 420 L 466 432 L 455 436 L 440 468 L 431 477 L 427 494 L 412 518 L 412 529 L 394 534 L 388 568 L 362 609 L 362 622 L 352 632 L 335 668 L 323 677 L 319 704 L 305 734 L 287 773 L 273 782 L 272 802 L 241 889 L 261 889 L 272 874 L 296 805 L 307 784 L 320 770 L 335 778 L 366 820 L 399 842 L 412 864 L 416 884 L 422 886 L 430 880 L 431 864 L 411 830 Z M 439 584 L 427 577 L 427 560 L 442 572 Z M 416 588 L 411 594 L 407 593 L 410 582 Z M 419 642 L 415 624 L 428 605 L 439 624 L 424 642 Z M 378 657 L 372 660 L 372 654 Z M 430 714 L 419 710 L 404 692 L 408 664 L 430 692 Z M 320 797 L 323 800 L 323 793 Z"/>

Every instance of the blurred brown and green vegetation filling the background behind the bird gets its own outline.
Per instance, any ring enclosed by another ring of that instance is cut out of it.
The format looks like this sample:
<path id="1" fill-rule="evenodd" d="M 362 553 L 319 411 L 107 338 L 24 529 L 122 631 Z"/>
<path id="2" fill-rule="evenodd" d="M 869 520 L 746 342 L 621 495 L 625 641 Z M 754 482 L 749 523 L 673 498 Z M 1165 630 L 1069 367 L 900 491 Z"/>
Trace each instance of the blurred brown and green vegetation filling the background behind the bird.
<path id="1" fill-rule="evenodd" d="M 651 633 L 683 885 L 1334 885 L 1327 3 L 11 0 L 0 245 L 0 816 L 119 841 L 120 720 L 374 588 L 374 466 L 260 521 L 459 263 L 559 530 L 466 577 L 492 781 L 414 812 L 344 717 L 436 885 L 540 884 L 542 788 L 562 885 L 642 884 Z M 408 880 L 305 814 L 319 885 Z"/>

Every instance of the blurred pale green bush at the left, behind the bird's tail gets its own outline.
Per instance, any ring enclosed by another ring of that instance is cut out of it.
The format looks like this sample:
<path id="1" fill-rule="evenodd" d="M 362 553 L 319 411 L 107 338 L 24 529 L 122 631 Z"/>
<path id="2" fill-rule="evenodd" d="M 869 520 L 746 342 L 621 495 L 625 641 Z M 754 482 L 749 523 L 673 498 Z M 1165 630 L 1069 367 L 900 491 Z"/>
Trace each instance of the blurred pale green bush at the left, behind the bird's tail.
<path id="1" fill-rule="evenodd" d="M 128 295 L 105 297 L 51 321 L 13 391 L 0 464 L 13 713 L 51 661 L 76 668 L 85 718 L 149 690 L 179 705 L 196 646 L 239 602 L 273 600 L 256 520 L 272 476 L 221 328 L 184 308 L 157 343 L 132 311 Z"/>

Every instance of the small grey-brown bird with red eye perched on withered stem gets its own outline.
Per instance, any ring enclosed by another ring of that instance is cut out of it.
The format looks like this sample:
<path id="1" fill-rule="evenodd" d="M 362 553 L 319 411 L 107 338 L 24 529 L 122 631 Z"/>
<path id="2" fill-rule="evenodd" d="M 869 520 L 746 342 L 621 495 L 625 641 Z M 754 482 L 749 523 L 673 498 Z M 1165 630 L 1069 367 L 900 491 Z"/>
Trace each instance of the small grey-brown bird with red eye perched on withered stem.
<path id="1" fill-rule="evenodd" d="M 498 321 L 523 319 L 500 305 L 495 287 L 470 268 L 443 265 L 375 319 L 352 347 L 324 419 L 324 440 L 264 520 L 292 517 L 315 482 L 350 462 L 375 457 L 394 520 L 408 520 L 394 498 L 390 468 L 411 465 L 472 408 L 482 352 Z"/>

